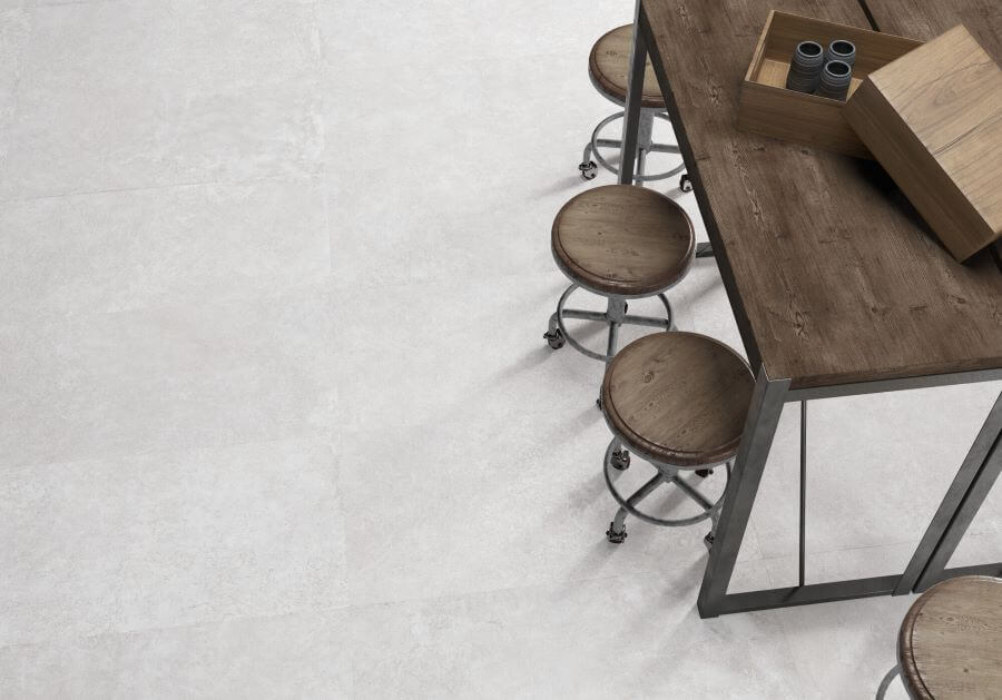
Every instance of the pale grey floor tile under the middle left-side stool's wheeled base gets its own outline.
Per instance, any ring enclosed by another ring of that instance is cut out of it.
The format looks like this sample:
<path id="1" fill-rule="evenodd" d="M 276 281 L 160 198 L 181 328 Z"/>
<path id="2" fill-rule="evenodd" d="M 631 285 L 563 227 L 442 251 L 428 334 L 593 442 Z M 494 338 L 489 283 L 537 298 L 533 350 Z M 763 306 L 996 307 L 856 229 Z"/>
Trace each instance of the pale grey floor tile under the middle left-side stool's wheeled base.
<path id="1" fill-rule="evenodd" d="M 441 422 L 471 411 L 498 420 L 512 411 L 548 411 L 558 420 L 595 411 L 603 365 L 570 346 L 553 352 L 542 337 L 566 284 L 552 270 L 490 283 L 338 290 L 332 313 L 343 331 L 337 388 L 350 412 L 345 427 Z M 605 308 L 601 297 L 587 293 L 572 300 Z M 664 315 L 659 304 L 640 299 L 630 309 Z M 689 326 L 685 305 L 677 308 L 677 324 Z M 569 327 L 605 352 L 598 324 Z M 647 331 L 629 327 L 620 339 L 626 344 Z"/>

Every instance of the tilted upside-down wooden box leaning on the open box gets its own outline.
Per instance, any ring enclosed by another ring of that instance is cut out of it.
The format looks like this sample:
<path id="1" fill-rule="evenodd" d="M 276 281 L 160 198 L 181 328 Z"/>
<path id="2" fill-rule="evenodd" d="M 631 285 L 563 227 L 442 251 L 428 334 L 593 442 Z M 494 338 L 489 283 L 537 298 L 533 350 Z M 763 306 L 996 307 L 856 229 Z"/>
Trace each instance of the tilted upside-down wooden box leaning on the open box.
<path id="1" fill-rule="evenodd" d="M 1002 237 L 1002 69 L 964 27 L 871 73 L 845 116 L 957 260 Z"/>

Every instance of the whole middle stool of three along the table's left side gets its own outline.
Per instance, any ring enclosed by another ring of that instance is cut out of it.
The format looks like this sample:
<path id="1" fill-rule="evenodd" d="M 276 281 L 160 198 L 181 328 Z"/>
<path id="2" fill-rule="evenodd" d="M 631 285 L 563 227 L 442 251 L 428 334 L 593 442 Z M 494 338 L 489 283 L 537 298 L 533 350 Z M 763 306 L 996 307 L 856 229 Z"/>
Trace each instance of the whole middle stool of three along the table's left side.
<path id="1" fill-rule="evenodd" d="M 570 343 L 588 357 L 609 362 L 616 354 L 621 325 L 672 328 L 671 304 L 665 292 L 689 270 L 696 235 L 688 215 L 671 199 L 632 185 L 589 189 L 557 214 L 551 240 L 553 259 L 571 280 L 543 335 L 551 348 L 559 349 Z M 579 287 L 606 297 L 606 310 L 564 308 Z M 651 296 L 665 305 L 666 317 L 627 314 L 627 299 Z M 596 353 L 581 345 L 568 333 L 566 318 L 608 324 L 606 352 Z"/>

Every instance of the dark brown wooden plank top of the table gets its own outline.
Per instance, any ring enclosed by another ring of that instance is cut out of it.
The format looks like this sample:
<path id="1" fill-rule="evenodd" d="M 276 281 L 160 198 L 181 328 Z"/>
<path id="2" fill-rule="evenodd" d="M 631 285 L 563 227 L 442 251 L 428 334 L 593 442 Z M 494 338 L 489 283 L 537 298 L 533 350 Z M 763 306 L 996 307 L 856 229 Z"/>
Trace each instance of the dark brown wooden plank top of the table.
<path id="1" fill-rule="evenodd" d="M 972 31 L 1002 59 L 995 0 L 867 2 L 881 30 L 920 39 L 989 24 Z M 792 388 L 1002 367 L 998 252 L 956 263 L 874 162 L 736 129 L 770 9 L 871 28 L 857 0 L 642 0 L 753 367 Z"/>

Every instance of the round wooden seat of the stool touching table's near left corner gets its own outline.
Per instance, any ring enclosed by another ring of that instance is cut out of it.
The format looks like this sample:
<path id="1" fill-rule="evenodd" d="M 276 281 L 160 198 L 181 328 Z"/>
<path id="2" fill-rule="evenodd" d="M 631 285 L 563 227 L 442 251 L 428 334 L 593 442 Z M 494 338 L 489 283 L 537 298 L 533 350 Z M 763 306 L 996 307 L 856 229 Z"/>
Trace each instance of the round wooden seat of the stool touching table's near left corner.
<path id="1" fill-rule="evenodd" d="M 602 410 L 641 455 L 705 466 L 737 452 L 754 387 L 748 363 L 723 343 L 698 333 L 655 333 L 609 364 Z"/>

